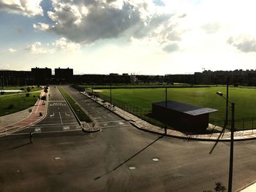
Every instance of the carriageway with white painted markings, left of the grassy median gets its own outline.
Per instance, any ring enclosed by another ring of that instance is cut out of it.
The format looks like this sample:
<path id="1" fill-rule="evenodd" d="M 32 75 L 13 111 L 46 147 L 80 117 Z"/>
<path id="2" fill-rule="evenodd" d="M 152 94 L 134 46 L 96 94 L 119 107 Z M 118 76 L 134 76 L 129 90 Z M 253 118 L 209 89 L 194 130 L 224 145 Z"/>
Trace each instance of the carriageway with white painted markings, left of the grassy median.
<path id="1" fill-rule="evenodd" d="M 48 110 L 45 118 L 34 126 L 19 131 L 19 133 L 68 131 L 80 128 L 57 86 L 50 86 L 49 89 L 50 97 L 48 97 Z"/>

